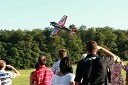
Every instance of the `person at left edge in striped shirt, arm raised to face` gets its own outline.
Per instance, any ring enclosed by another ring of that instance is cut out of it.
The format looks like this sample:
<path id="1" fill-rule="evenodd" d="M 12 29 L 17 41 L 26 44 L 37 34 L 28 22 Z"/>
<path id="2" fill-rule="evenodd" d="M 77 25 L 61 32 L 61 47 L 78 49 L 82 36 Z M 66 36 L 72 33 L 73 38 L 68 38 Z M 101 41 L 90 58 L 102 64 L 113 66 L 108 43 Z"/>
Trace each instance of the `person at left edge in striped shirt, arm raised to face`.
<path id="1" fill-rule="evenodd" d="M 6 71 L 5 68 L 10 68 L 14 72 Z M 11 65 L 6 65 L 6 62 L 4 60 L 0 60 L 0 80 L 1 85 L 12 85 L 12 79 L 20 76 L 20 73 L 17 69 L 15 69 Z"/>

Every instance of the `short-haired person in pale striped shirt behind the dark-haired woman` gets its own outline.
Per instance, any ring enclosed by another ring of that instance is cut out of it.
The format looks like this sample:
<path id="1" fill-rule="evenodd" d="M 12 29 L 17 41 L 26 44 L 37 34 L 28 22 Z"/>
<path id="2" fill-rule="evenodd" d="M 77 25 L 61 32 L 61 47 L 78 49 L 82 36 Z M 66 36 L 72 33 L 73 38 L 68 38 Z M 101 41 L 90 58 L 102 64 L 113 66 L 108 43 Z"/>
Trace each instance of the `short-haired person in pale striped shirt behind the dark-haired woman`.
<path id="1" fill-rule="evenodd" d="M 53 66 L 52 66 L 52 72 L 53 72 L 54 74 L 57 74 L 58 72 L 60 72 L 60 67 L 59 67 L 60 61 L 61 61 L 61 59 L 64 58 L 64 57 L 67 57 L 67 50 L 66 50 L 66 49 L 61 49 L 61 50 L 59 50 L 59 58 L 60 58 L 60 60 L 58 60 L 57 62 L 55 62 L 55 63 L 53 64 Z M 72 71 L 73 71 L 73 70 L 72 70 Z"/>

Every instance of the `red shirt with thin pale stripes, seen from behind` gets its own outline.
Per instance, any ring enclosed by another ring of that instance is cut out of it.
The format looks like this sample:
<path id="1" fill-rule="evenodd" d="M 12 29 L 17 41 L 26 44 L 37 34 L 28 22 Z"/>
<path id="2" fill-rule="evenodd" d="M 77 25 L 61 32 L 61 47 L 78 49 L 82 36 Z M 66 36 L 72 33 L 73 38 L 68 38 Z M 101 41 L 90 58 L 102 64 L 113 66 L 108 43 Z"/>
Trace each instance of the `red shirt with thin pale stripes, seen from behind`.
<path id="1" fill-rule="evenodd" d="M 53 72 L 43 65 L 34 72 L 32 79 L 37 82 L 37 85 L 51 85 L 52 76 Z"/>

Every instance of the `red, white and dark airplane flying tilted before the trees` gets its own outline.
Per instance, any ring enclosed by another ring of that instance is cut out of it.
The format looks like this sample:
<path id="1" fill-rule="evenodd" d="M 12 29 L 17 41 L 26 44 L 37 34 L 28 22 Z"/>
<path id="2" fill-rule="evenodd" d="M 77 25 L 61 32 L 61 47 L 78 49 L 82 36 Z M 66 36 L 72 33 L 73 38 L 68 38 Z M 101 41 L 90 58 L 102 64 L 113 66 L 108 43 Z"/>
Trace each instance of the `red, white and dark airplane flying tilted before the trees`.
<path id="1" fill-rule="evenodd" d="M 61 30 L 69 31 L 70 35 L 73 35 L 76 32 L 77 28 L 75 26 L 73 27 L 73 29 L 68 29 L 64 26 L 67 20 L 67 17 L 68 16 L 64 15 L 58 23 L 50 22 L 50 25 L 54 27 L 54 30 L 50 35 L 51 38 L 55 38 L 55 36 L 59 34 Z"/>

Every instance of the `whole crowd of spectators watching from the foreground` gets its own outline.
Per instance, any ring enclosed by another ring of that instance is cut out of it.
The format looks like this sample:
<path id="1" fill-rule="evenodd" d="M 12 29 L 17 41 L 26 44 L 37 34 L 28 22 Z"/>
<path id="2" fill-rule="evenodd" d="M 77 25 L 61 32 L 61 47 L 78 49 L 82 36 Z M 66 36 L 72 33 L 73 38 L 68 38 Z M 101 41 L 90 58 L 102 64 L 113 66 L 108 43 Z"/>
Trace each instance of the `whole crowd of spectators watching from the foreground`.
<path id="1" fill-rule="evenodd" d="M 128 63 L 124 65 L 120 57 L 95 41 L 89 41 L 85 50 L 75 72 L 66 49 L 59 50 L 60 59 L 54 62 L 51 69 L 46 66 L 45 55 L 40 54 L 35 71 L 30 73 L 30 85 L 128 85 Z M 99 51 L 104 55 L 99 55 Z M 5 71 L 6 67 L 14 72 Z M 126 71 L 125 84 L 122 69 Z M 0 60 L 1 85 L 12 85 L 11 79 L 17 76 L 20 76 L 18 70 Z"/>

